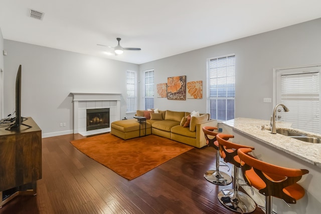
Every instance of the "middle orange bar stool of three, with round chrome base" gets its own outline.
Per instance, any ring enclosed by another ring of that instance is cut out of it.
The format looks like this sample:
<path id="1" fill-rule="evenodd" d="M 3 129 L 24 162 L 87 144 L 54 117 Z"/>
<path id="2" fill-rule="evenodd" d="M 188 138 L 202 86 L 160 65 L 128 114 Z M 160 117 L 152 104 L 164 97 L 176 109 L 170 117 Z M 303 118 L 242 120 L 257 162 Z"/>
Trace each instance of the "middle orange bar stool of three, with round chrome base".
<path id="1" fill-rule="evenodd" d="M 254 149 L 254 147 L 232 143 L 228 141 L 230 138 L 234 138 L 234 136 L 230 134 L 216 135 L 216 139 L 219 142 L 221 157 L 224 159 L 225 162 L 229 162 L 234 165 L 233 189 L 221 190 L 218 194 L 218 198 L 224 206 L 233 211 L 249 213 L 255 210 L 256 203 L 248 194 L 238 191 L 238 169 L 240 168 L 241 164 L 240 158 L 237 155 L 237 150 L 240 148 Z"/>

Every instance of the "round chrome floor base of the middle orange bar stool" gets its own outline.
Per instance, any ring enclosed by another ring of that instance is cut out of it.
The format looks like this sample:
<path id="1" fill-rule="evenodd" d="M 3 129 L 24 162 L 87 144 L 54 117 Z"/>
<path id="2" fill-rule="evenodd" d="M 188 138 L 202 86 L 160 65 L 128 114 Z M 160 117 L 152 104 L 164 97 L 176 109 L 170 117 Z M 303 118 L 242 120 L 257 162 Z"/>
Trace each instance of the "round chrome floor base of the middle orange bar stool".
<path id="1" fill-rule="evenodd" d="M 227 208 L 241 213 L 253 212 L 256 209 L 256 203 L 247 194 L 234 189 L 223 189 L 218 194 L 220 202 Z"/>

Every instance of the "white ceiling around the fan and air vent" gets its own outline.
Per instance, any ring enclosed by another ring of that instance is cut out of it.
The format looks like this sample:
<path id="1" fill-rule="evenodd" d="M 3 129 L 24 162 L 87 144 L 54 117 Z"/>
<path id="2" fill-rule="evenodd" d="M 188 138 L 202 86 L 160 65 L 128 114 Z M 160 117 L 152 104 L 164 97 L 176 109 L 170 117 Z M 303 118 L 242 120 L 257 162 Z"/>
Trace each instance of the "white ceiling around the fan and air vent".
<path id="1" fill-rule="evenodd" d="M 141 64 L 317 19 L 320 9 L 320 0 L 0 0 L 0 28 L 4 39 Z M 117 37 L 141 51 L 96 45 Z"/>

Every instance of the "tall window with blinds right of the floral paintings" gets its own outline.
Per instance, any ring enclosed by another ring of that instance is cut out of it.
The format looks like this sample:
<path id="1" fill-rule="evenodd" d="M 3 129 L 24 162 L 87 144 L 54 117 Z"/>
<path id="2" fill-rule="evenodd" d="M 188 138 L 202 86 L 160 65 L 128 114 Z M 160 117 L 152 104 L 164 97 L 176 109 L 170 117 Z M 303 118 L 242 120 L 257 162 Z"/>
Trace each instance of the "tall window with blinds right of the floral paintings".
<path id="1" fill-rule="evenodd" d="M 207 108 L 211 119 L 235 117 L 235 55 L 207 60 Z"/>

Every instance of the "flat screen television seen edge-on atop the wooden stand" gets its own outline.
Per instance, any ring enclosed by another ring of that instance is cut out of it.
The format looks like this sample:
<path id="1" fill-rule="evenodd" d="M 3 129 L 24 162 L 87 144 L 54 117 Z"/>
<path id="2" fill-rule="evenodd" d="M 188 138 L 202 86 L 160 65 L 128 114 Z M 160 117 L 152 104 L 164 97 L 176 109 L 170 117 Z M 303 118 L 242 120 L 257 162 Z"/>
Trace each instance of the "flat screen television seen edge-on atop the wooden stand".
<path id="1" fill-rule="evenodd" d="M 15 102 L 16 102 L 16 119 L 15 119 L 15 123 L 10 125 L 6 129 L 7 130 L 11 130 L 11 129 L 19 128 L 20 125 L 24 125 L 24 126 L 27 126 L 27 127 L 31 128 L 31 126 L 26 125 L 26 124 L 23 123 L 24 119 L 26 119 L 26 118 L 23 118 L 21 116 L 21 65 L 18 68 L 18 73 L 17 73 L 17 77 L 16 77 Z"/>

